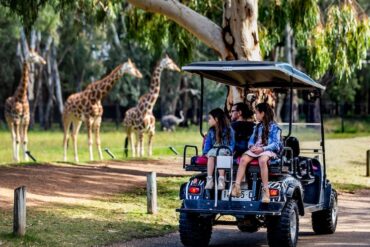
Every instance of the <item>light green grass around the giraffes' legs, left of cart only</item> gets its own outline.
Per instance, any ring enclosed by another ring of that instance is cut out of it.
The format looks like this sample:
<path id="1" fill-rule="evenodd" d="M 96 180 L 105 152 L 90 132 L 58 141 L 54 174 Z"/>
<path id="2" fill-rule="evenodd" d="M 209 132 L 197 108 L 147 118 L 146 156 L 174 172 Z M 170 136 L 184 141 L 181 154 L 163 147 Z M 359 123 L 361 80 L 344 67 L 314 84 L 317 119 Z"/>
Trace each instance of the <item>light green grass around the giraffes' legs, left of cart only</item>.
<path id="1" fill-rule="evenodd" d="M 159 129 L 159 128 L 158 128 Z M 117 130 L 112 125 L 105 126 L 101 131 L 101 147 L 105 159 L 110 156 L 104 152 L 105 148 L 116 156 L 116 159 L 126 159 L 123 153 L 124 139 L 126 134 L 123 130 Z M 146 136 L 144 137 L 146 138 Z M 29 145 L 28 149 L 38 162 L 55 162 L 63 160 L 63 132 L 58 128 L 52 131 L 43 131 L 36 128 L 29 131 L 28 134 Z M 12 163 L 12 144 L 10 132 L 7 130 L 0 131 L 0 164 Z M 145 139 L 145 152 L 147 151 L 147 140 Z M 194 142 L 195 141 L 195 142 Z M 73 161 L 72 141 L 69 140 L 68 161 Z M 178 152 L 182 152 L 185 144 L 199 145 L 202 144 L 202 139 L 197 130 L 193 126 L 189 129 L 180 129 L 175 133 L 168 133 L 157 131 L 154 136 L 153 155 L 154 158 L 174 155 L 169 149 L 174 147 Z M 87 134 L 82 128 L 78 136 L 78 152 L 80 162 L 89 160 Z M 97 150 L 94 146 L 94 158 L 98 159 Z M 23 157 L 21 157 L 22 159 Z"/>

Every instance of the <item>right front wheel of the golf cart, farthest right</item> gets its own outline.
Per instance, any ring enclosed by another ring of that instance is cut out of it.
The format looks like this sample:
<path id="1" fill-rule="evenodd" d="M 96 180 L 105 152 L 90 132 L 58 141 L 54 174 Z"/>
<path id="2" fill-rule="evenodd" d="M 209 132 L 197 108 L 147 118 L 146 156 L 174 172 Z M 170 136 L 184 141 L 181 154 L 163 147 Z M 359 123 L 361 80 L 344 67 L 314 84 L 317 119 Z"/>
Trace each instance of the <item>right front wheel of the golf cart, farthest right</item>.
<path id="1" fill-rule="evenodd" d="M 338 222 L 337 192 L 332 190 L 328 209 L 312 213 L 312 229 L 316 234 L 333 234 Z"/>

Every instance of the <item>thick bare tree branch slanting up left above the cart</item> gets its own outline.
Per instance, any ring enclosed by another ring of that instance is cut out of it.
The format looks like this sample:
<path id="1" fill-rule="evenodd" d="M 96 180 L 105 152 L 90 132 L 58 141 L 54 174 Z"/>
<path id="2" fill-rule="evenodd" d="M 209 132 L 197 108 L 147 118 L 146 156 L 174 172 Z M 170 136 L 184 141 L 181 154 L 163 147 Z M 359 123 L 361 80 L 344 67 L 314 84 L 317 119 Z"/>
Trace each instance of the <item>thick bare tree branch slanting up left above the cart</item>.
<path id="1" fill-rule="evenodd" d="M 159 13 L 173 20 L 215 50 L 222 59 L 229 55 L 222 38 L 222 29 L 203 15 L 176 0 L 128 0 L 135 7 Z"/>

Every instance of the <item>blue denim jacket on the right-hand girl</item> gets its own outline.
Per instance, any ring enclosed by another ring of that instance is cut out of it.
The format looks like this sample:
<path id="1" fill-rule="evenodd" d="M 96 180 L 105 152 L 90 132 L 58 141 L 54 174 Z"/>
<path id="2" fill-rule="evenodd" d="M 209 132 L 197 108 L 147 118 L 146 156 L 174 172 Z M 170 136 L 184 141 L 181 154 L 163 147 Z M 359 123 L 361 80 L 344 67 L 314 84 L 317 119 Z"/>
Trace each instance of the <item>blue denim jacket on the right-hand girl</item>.
<path id="1" fill-rule="evenodd" d="M 270 130 L 268 134 L 267 145 L 263 146 L 263 151 L 271 151 L 271 152 L 278 154 L 283 149 L 283 144 L 281 140 L 281 129 L 275 122 L 270 123 L 269 129 Z M 253 134 L 249 138 L 248 148 L 250 148 L 251 146 L 255 144 L 254 139 L 257 133 L 258 133 L 258 137 L 262 138 L 262 130 L 263 130 L 262 124 L 257 124 L 254 127 Z"/>

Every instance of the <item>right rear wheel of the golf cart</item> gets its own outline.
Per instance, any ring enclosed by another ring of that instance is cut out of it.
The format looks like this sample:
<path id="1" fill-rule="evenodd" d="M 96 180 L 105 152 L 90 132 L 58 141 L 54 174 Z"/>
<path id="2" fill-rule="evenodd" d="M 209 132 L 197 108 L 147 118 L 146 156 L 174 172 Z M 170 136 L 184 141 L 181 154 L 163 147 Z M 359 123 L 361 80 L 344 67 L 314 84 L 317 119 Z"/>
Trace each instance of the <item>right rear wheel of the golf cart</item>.
<path id="1" fill-rule="evenodd" d="M 267 219 L 267 241 L 270 247 L 295 247 L 298 241 L 299 215 L 295 200 L 289 200 L 281 216 Z"/>

